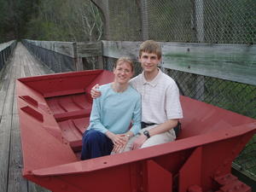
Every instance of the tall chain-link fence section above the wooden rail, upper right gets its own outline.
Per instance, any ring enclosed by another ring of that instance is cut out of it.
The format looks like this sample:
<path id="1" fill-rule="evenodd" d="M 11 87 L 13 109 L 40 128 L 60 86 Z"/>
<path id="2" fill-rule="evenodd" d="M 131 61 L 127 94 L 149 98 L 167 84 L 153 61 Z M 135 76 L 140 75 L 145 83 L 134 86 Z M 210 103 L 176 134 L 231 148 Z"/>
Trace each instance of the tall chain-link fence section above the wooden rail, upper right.
<path id="1" fill-rule="evenodd" d="M 254 0 L 93 0 L 108 40 L 255 44 Z"/>

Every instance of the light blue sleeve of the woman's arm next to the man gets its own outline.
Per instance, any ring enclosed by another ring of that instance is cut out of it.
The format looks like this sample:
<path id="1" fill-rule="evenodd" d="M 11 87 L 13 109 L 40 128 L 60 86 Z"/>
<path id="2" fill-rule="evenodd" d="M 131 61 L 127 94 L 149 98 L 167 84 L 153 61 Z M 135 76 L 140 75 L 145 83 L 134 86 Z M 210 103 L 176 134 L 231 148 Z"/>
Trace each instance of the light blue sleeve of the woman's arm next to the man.
<path id="1" fill-rule="evenodd" d="M 141 96 L 138 96 L 133 115 L 132 115 L 132 126 L 131 132 L 136 135 L 138 131 L 141 130 L 141 122 L 142 122 L 142 99 Z"/>

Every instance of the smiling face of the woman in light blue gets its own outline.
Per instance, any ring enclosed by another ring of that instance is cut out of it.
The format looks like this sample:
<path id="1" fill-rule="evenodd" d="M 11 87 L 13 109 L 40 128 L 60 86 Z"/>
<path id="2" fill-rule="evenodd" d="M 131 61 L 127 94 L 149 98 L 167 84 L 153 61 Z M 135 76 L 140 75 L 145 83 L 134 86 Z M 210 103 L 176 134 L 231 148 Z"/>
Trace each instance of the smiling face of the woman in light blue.
<path id="1" fill-rule="evenodd" d="M 131 65 L 128 62 L 119 62 L 113 69 L 114 80 L 119 84 L 127 84 L 133 76 Z"/>

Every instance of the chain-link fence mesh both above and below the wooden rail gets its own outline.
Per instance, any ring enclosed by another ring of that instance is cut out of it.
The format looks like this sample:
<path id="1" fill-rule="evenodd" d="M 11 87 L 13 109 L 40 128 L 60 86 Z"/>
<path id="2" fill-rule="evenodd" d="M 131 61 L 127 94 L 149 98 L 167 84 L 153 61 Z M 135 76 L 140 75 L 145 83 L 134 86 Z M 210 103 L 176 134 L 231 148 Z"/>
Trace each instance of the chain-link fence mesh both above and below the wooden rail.
<path id="1" fill-rule="evenodd" d="M 105 16 L 105 38 L 110 41 L 248 44 L 256 43 L 254 0 L 93 0 Z M 254 55 L 251 65 L 255 67 Z M 104 58 L 112 69 L 114 58 Z M 221 69 L 219 69 L 221 70 Z M 137 63 L 137 73 L 141 68 Z M 163 68 L 176 80 L 184 96 L 256 119 L 256 84 Z M 255 73 L 256 75 L 256 73 Z M 235 163 L 256 179 L 256 137 Z"/>

